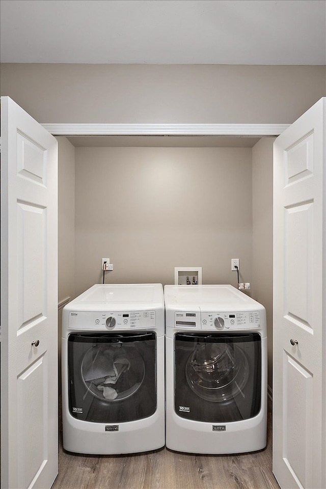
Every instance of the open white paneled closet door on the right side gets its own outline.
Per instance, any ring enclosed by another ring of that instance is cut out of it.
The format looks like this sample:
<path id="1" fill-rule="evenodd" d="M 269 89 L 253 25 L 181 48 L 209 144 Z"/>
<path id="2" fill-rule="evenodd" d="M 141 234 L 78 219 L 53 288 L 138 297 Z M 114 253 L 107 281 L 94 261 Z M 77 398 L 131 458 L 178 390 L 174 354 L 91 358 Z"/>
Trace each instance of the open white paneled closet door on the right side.
<path id="1" fill-rule="evenodd" d="M 274 143 L 273 472 L 326 486 L 325 98 Z"/>

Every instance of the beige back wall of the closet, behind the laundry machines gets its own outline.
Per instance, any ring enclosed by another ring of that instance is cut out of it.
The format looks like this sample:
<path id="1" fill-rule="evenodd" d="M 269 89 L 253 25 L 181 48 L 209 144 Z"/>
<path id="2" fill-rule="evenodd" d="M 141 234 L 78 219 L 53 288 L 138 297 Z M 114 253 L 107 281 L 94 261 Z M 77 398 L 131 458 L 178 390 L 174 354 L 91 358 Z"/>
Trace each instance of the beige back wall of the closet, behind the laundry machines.
<path id="1" fill-rule="evenodd" d="M 75 148 L 75 292 L 107 283 L 252 280 L 251 148 Z"/>

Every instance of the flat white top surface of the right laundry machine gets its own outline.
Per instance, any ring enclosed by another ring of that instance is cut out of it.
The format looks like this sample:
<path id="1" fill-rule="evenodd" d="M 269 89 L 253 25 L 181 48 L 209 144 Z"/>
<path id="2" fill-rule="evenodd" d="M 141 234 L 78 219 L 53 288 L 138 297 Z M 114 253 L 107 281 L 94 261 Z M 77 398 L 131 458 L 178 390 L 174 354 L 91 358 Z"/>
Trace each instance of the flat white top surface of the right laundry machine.
<path id="1" fill-rule="evenodd" d="M 166 285 L 164 287 L 165 304 L 167 307 L 198 306 L 201 309 L 240 310 L 248 306 L 260 306 L 251 297 L 237 290 L 232 285 Z"/>

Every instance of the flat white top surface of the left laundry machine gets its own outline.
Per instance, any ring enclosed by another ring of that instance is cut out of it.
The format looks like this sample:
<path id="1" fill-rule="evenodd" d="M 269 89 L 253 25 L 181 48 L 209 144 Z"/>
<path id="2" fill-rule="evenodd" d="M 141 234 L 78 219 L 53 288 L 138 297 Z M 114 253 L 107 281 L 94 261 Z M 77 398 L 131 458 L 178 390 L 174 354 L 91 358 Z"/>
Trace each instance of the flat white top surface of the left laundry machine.
<path id="1" fill-rule="evenodd" d="M 164 294 L 161 284 L 95 284 L 69 303 L 71 308 L 105 310 L 118 307 L 147 308 L 164 306 Z M 84 309 L 85 310 L 85 309 Z"/>

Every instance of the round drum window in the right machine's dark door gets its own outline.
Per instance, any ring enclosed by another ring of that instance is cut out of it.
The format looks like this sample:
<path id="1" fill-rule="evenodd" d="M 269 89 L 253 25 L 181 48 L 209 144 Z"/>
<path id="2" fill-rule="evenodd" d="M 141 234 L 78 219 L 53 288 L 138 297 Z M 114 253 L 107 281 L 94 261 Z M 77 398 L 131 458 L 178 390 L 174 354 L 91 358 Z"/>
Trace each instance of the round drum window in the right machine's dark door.
<path id="1" fill-rule="evenodd" d="M 223 402 L 242 392 L 249 375 L 248 360 L 235 344 L 205 343 L 189 356 L 188 385 L 202 399 Z"/>

